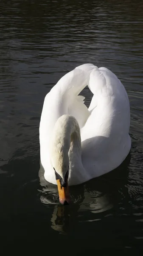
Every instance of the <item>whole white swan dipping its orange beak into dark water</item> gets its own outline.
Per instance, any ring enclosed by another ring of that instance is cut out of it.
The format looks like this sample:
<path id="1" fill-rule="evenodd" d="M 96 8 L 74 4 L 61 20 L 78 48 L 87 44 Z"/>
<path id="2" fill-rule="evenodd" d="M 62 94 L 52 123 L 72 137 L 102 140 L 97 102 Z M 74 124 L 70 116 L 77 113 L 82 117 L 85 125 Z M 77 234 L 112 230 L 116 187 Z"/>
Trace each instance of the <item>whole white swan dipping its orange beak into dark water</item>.
<path id="1" fill-rule="evenodd" d="M 89 108 L 79 95 L 93 93 Z M 69 186 L 118 167 L 131 148 L 129 99 L 121 81 L 105 67 L 83 64 L 64 75 L 45 96 L 39 125 L 44 177 L 58 186 L 61 204 Z"/>

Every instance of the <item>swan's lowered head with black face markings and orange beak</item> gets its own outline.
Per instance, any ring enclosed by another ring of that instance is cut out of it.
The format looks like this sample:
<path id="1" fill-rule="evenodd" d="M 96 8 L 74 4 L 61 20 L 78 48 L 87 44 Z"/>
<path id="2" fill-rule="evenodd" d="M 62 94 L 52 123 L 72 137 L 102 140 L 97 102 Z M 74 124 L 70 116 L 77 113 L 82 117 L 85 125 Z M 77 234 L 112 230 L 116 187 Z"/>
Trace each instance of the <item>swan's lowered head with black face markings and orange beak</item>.
<path id="1" fill-rule="evenodd" d="M 68 188 L 68 174 L 69 174 L 69 157 L 61 147 L 56 145 L 53 154 L 51 155 L 51 164 L 53 172 L 55 172 L 56 182 L 58 185 L 59 201 L 61 204 L 69 204 L 69 188 Z"/>

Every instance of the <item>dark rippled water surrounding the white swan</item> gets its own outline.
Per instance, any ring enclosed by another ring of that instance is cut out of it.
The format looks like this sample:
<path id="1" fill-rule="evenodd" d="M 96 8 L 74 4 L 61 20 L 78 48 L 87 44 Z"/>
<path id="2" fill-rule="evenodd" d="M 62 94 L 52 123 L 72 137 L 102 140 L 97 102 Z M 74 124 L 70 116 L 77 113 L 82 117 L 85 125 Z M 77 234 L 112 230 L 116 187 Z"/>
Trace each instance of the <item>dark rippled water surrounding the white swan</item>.
<path id="1" fill-rule="evenodd" d="M 50 88 L 84 63 L 111 69 L 126 87 L 132 149 L 117 170 L 71 188 L 74 204 L 62 207 L 39 172 L 39 121 Z M 0 92 L 0 241 L 47 253 L 52 241 L 53 252 L 74 255 L 141 250 L 143 1 L 1 0 Z"/>

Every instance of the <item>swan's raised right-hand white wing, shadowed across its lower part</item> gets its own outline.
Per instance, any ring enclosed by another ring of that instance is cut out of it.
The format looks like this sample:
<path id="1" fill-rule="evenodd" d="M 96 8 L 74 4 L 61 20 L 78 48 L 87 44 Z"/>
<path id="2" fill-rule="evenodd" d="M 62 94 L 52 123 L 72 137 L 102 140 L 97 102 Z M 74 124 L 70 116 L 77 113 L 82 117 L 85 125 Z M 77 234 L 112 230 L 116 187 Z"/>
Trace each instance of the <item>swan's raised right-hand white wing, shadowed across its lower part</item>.
<path id="1" fill-rule="evenodd" d="M 87 82 L 93 98 L 81 128 L 82 162 L 96 177 L 115 169 L 129 153 L 130 108 L 123 84 L 107 68 L 95 67 Z"/>

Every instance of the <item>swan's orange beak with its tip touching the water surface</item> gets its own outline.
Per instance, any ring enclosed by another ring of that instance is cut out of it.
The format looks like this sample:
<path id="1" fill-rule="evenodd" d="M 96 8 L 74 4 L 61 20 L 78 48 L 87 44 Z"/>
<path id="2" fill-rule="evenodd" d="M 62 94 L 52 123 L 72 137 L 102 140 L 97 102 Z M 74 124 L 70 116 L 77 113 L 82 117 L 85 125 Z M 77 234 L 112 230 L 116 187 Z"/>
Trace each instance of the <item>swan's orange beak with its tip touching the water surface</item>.
<path id="1" fill-rule="evenodd" d="M 68 184 L 66 187 L 62 187 L 60 180 L 56 180 L 58 185 L 59 192 L 59 201 L 61 204 L 69 204 L 70 203 L 70 195 L 69 195 L 69 187 Z"/>

